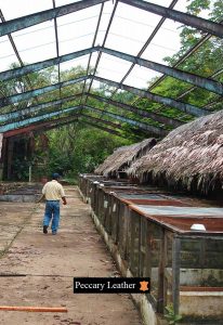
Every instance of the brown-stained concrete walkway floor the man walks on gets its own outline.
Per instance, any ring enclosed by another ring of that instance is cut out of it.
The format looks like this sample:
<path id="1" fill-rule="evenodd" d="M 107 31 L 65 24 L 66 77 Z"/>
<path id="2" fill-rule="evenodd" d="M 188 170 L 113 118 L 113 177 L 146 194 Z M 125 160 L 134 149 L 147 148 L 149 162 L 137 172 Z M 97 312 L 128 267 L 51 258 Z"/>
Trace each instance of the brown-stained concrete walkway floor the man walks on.
<path id="1" fill-rule="evenodd" d="M 0 304 L 66 307 L 68 313 L 0 311 L 2 325 L 139 325 L 128 295 L 74 295 L 74 276 L 117 271 L 78 191 L 67 187 L 56 236 L 42 234 L 44 204 L 0 203 Z M 26 276 L 3 276 L 5 274 Z"/>

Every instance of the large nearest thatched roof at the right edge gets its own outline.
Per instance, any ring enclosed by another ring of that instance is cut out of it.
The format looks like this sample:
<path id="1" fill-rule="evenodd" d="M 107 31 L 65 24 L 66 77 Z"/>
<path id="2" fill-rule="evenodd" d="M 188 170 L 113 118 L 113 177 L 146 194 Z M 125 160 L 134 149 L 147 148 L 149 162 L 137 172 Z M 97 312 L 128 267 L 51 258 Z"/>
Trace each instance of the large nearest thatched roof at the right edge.
<path id="1" fill-rule="evenodd" d="M 222 191 L 223 110 L 173 130 L 127 172 L 141 182 L 201 194 Z"/>

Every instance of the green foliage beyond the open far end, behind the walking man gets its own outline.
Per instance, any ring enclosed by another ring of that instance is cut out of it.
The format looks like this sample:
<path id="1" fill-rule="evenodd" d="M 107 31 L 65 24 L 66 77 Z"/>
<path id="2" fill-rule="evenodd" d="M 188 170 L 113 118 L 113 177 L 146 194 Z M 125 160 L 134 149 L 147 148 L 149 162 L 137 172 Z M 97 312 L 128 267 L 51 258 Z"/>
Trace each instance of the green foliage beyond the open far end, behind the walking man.
<path id="1" fill-rule="evenodd" d="M 114 148 L 130 143 L 83 125 L 60 128 L 49 132 L 49 136 L 48 173 L 56 171 L 68 178 L 75 178 L 79 172 L 92 172 Z"/>

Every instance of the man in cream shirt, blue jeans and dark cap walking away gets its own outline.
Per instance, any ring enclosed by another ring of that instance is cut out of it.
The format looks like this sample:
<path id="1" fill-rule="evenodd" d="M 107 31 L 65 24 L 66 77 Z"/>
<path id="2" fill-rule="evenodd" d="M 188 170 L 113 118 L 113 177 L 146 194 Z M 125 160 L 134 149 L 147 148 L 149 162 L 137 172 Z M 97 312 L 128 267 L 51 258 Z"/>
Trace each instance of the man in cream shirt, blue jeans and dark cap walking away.
<path id="1" fill-rule="evenodd" d="M 66 197 L 62 184 L 58 183 L 60 174 L 53 173 L 52 181 L 44 184 L 42 194 L 45 198 L 45 211 L 43 218 L 43 234 L 48 233 L 48 227 L 52 219 L 52 234 L 56 235 L 60 223 L 60 200 L 66 205 Z"/>

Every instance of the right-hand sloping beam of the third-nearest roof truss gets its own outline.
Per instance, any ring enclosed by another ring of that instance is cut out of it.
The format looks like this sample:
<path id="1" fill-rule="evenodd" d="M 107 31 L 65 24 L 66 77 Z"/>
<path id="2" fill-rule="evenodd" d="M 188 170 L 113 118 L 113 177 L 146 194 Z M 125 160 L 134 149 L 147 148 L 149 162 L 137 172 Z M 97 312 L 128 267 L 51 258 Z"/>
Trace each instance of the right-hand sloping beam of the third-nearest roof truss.
<path id="1" fill-rule="evenodd" d="M 127 84 L 123 84 L 123 83 L 120 84 L 116 81 L 108 80 L 108 79 L 105 79 L 105 78 L 101 78 L 101 77 L 97 77 L 97 76 L 95 76 L 94 79 L 100 81 L 100 82 L 107 83 L 112 87 L 118 87 L 119 89 L 123 89 L 126 91 L 129 91 L 129 92 L 131 92 L 131 93 L 133 93 L 133 94 L 135 94 L 140 98 L 146 98 L 150 101 L 161 103 L 161 104 L 165 104 L 165 105 L 170 106 L 170 107 L 178 108 L 178 109 L 180 109 L 184 113 L 191 114 L 191 115 L 205 116 L 205 115 L 209 114 L 209 112 L 207 112 L 206 109 L 199 108 L 197 106 L 186 104 L 186 103 L 182 103 L 180 101 L 175 101 L 175 100 L 170 99 L 170 98 L 161 96 L 161 95 L 158 95 L 158 94 L 145 91 L 145 90 L 141 90 L 139 88 L 130 87 L 130 86 L 127 86 Z"/>

